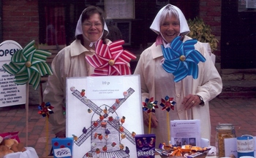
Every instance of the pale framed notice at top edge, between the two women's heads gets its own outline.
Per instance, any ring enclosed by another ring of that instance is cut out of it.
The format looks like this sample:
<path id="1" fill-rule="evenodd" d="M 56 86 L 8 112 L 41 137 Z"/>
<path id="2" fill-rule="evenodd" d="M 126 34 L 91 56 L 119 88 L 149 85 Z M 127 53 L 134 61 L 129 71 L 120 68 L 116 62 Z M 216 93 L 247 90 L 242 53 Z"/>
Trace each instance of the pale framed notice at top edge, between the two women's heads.
<path id="1" fill-rule="evenodd" d="M 105 0 L 105 15 L 111 19 L 134 19 L 134 0 Z"/>

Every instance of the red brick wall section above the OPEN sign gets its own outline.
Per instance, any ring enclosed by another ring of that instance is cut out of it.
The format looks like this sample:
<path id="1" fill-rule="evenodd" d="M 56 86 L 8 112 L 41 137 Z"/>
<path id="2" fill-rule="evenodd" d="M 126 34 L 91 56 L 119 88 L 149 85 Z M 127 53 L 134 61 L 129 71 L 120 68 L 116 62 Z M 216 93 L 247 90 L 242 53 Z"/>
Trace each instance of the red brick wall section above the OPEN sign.
<path id="1" fill-rule="evenodd" d="M 21 47 L 38 42 L 38 0 L 2 0 L 3 41 L 14 40 Z"/>

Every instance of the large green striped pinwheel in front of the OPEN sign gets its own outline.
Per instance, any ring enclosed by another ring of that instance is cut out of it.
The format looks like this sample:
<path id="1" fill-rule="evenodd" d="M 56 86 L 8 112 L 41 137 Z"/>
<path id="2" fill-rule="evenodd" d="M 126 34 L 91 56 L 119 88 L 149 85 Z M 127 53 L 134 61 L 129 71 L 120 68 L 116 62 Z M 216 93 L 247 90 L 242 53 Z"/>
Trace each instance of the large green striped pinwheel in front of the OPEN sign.
<path id="1" fill-rule="evenodd" d="M 32 84 L 34 90 L 37 90 L 41 76 L 52 75 L 53 72 L 45 63 L 46 58 L 51 55 L 45 50 L 36 50 L 34 40 L 18 50 L 12 55 L 9 65 L 4 64 L 3 68 L 9 74 L 15 75 L 15 84 Z"/>

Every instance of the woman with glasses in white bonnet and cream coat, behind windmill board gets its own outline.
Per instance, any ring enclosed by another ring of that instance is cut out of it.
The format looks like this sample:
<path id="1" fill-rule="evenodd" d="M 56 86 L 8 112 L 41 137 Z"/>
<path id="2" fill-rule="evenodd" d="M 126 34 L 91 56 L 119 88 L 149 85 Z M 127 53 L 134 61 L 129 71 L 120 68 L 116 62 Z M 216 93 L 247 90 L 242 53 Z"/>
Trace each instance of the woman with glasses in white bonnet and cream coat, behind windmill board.
<path id="1" fill-rule="evenodd" d="M 50 102 L 54 114 L 49 117 L 53 133 L 57 137 L 66 135 L 66 118 L 64 103 L 66 94 L 66 78 L 75 76 L 90 76 L 94 68 L 87 63 L 86 55 L 94 55 L 95 44 L 102 39 L 104 44 L 108 27 L 105 24 L 104 12 L 99 7 L 90 6 L 83 10 L 75 30 L 75 41 L 61 50 L 53 59 L 51 68 L 53 75 L 48 77 L 44 91 L 44 102 Z"/>

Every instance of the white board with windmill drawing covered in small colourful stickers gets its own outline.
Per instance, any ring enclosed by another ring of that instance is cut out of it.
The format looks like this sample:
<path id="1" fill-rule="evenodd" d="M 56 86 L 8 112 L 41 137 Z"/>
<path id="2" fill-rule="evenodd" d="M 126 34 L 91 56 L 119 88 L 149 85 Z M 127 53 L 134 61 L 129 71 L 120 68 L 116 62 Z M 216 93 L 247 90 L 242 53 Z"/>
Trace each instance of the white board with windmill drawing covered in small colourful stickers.
<path id="1" fill-rule="evenodd" d="M 144 134 L 140 76 L 68 78 L 66 112 L 67 137 L 77 137 L 72 157 L 137 157 L 135 133 Z"/>

